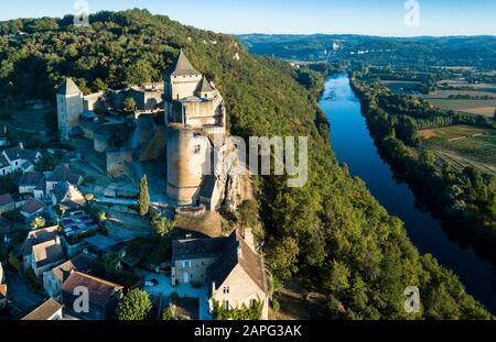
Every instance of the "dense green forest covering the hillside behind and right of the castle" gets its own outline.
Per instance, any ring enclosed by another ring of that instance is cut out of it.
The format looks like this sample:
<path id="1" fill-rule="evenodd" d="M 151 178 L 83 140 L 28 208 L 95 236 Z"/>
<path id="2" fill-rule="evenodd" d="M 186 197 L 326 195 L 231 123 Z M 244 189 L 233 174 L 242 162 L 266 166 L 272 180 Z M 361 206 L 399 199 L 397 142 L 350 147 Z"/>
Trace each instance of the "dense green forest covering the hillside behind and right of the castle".
<path id="1" fill-rule="evenodd" d="M 100 12 L 89 21 L 90 27 L 74 27 L 71 16 L 0 23 L 1 100 L 53 99 L 64 76 L 85 91 L 159 81 L 183 47 L 224 95 L 233 134 L 310 137 L 304 187 L 288 188 L 285 177 L 256 179 L 274 289 L 303 276 L 325 295 L 331 319 L 493 318 L 452 272 L 419 255 L 402 222 L 337 164 L 313 73 L 298 74 L 287 63 L 248 54 L 233 36 L 147 11 Z M 29 35 L 9 35 L 17 30 Z M 405 310 L 408 286 L 420 289 L 420 313 Z"/>

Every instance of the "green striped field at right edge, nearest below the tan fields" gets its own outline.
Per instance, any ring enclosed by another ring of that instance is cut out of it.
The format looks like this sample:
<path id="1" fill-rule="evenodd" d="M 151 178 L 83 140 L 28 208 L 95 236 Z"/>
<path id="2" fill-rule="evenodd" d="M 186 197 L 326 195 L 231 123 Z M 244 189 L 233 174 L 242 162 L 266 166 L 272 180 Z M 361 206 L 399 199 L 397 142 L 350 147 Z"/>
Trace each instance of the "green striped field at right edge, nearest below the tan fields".
<path id="1" fill-rule="evenodd" d="M 419 135 L 424 146 L 454 167 L 474 166 L 496 174 L 496 130 L 452 125 L 422 130 Z"/>

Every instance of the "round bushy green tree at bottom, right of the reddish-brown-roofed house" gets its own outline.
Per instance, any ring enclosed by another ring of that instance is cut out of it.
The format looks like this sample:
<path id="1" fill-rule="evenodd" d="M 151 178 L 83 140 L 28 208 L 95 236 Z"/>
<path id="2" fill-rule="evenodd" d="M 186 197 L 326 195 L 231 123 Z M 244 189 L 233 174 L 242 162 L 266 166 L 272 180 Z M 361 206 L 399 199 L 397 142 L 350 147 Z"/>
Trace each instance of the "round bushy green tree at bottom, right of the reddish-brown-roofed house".
<path id="1" fill-rule="evenodd" d="M 148 294 L 134 288 L 119 301 L 116 315 L 121 321 L 142 321 L 149 317 L 151 309 L 152 302 Z"/>

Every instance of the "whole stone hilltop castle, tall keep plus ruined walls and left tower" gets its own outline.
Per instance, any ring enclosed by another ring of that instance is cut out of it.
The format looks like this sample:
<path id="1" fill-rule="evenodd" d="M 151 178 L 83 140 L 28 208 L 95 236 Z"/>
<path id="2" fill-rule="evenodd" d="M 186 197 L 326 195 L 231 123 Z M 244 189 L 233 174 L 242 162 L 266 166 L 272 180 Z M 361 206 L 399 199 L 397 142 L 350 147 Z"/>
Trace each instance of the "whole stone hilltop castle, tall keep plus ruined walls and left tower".
<path id="1" fill-rule="evenodd" d="M 183 51 L 163 73 L 163 81 L 159 99 L 160 88 L 157 87 L 132 87 L 83 96 L 75 82 L 67 78 L 56 96 L 61 139 L 69 140 L 80 134 L 94 140 L 95 150 L 106 153 L 108 175 L 120 175 L 127 164 L 143 157 L 137 157 L 137 146 L 130 143 L 133 130 L 138 130 L 138 118 L 133 123 L 116 118 L 114 111 L 119 110 L 123 102 L 122 96 L 120 101 L 115 100 L 116 93 L 132 97 L 138 110 L 143 112 L 155 114 L 163 108 L 164 124 L 158 129 L 160 132 L 145 133 L 164 135 L 162 140 L 149 139 L 149 143 L 165 154 L 164 192 L 170 205 L 216 210 L 224 200 L 228 200 L 233 206 L 237 177 L 229 175 L 234 154 L 226 139 L 227 114 L 220 92 L 193 67 Z M 151 107 L 147 106 L 150 100 Z M 96 108 L 104 108 L 106 114 L 96 115 Z M 143 148 L 147 150 L 150 148 Z M 228 163 L 224 162 L 226 155 L 230 155 Z"/>

